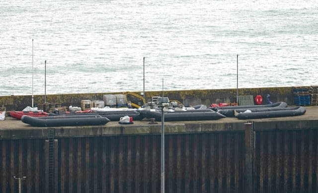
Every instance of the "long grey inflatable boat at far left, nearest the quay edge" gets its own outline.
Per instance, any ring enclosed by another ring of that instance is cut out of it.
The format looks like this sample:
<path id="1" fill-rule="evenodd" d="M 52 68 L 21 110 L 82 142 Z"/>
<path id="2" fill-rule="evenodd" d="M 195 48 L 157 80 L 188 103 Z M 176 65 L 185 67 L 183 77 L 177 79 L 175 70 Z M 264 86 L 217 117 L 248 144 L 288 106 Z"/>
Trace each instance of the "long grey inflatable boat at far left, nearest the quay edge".
<path id="1" fill-rule="evenodd" d="M 93 116 L 55 116 L 30 117 L 23 115 L 21 121 L 34 127 L 64 127 L 64 126 L 98 126 L 105 125 L 109 119 L 99 115 Z"/>

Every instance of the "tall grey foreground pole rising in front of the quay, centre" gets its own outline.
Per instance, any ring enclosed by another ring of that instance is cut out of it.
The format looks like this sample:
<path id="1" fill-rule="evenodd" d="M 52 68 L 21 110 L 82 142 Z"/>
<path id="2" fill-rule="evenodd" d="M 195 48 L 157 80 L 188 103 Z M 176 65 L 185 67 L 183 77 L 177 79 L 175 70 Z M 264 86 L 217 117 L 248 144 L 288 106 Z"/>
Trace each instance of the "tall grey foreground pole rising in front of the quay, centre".
<path id="1" fill-rule="evenodd" d="M 163 97 L 163 78 L 162 78 Z M 164 193 L 164 113 L 163 104 L 161 106 L 161 193 Z"/>

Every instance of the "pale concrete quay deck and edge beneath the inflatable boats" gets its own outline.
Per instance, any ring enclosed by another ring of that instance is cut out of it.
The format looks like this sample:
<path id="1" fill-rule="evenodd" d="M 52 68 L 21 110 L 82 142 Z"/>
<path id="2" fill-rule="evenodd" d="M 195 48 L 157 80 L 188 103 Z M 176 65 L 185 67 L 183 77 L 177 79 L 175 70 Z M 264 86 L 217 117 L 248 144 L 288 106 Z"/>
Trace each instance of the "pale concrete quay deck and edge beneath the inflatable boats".
<path id="1" fill-rule="evenodd" d="M 317 129 L 318 106 L 306 106 L 302 116 L 238 120 L 224 118 L 215 121 L 165 122 L 165 133 L 243 131 L 244 123 L 254 122 L 254 129 Z M 57 127 L 55 137 L 85 137 L 111 135 L 160 134 L 161 122 L 149 124 L 149 120 L 134 121 L 132 125 L 109 122 L 104 126 Z M 0 121 L 0 139 L 47 138 L 47 128 L 31 127 L 20 120 L 6 116 Z"/>

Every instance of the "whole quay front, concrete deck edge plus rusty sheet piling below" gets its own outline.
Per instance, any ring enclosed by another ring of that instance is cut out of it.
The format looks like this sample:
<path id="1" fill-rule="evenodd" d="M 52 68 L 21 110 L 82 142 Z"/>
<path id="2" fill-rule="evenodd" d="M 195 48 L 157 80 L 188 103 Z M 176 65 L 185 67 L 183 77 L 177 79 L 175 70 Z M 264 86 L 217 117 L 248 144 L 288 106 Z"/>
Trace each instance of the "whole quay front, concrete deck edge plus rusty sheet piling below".
<path id="1" fill-rule="evenodd" d="M 165 191 L 318 192 L 318 119 L 307 118 L 165 123 Z M 160 127 L 33 128 L 8 118 L 0 192 L 17 192 L 13 175 L 27 177 L 26 193 L 159 192 Z"/>

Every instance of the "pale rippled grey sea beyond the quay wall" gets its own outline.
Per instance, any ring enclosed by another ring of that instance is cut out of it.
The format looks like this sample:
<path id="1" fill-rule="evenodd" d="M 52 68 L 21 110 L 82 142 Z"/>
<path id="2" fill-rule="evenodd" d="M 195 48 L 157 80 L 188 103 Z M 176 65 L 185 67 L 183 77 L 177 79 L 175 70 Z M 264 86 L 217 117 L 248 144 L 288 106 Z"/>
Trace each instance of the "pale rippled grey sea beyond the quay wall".
<path id="1" fill-rule="evenodd" d="M 318 84 L 317 0 L 0 1 L 0 95 Z"/>

